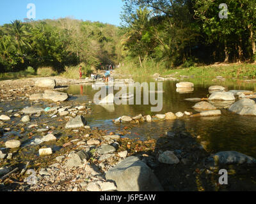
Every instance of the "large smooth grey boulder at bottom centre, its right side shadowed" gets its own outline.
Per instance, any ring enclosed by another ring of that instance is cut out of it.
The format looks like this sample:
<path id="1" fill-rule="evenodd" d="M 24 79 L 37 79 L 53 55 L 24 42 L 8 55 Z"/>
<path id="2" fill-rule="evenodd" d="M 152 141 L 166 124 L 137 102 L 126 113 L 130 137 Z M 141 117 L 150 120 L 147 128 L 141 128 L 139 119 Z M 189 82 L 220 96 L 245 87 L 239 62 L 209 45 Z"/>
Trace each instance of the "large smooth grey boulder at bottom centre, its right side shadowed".
<path id="1" fill-rule="evenodd" d="M 115 181 L 118 191 L 163 191 L 152 170 L 134 156 L 107 171 L 106 179 Z"/>

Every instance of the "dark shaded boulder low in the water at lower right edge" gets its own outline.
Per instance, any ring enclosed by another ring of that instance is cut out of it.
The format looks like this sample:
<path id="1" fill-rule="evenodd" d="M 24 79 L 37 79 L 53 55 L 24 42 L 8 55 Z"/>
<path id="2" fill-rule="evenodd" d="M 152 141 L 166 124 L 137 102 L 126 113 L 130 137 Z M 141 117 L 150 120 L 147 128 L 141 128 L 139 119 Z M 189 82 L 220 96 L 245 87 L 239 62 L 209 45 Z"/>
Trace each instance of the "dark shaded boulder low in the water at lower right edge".
<path id="1" fill-rule="evenodd" d="M 256 164 L 256 159 L 236 151 L 225 151 L 208 157 L 207 162 L 213 166 L 219 164 Z"/>

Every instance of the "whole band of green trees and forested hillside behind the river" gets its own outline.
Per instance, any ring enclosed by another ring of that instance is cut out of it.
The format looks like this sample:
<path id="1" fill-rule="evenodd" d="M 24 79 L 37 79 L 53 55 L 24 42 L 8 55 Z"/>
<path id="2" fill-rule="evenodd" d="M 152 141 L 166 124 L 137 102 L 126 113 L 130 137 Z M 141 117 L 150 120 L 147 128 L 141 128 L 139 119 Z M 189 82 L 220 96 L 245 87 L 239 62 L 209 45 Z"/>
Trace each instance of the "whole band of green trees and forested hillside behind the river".
<path id="1" fill-rule="evenodd" d="M 0 70 L 123 61 L 175 68 L 256 59 L 254 0 L 123 1 L 120 27 L 70 18 L 1 26 Z"/>

